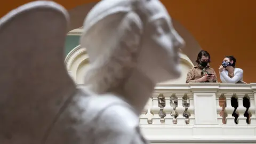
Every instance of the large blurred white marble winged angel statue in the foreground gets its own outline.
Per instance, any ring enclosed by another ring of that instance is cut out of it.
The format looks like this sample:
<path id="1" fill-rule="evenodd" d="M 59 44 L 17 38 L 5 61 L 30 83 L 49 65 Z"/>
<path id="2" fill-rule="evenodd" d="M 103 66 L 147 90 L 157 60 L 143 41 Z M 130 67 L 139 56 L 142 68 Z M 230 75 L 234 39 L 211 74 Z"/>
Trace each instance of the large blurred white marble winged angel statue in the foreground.
<path id="1" fill-rule="evenodd" d="M 183 39 L 158 0 L 104 0 L 84 21 L 84 89 L 64 65 L 68 14 L 36 1 L 0 20 L 0 143 L 148 143 L 139 114 L 178 78 Z"/>

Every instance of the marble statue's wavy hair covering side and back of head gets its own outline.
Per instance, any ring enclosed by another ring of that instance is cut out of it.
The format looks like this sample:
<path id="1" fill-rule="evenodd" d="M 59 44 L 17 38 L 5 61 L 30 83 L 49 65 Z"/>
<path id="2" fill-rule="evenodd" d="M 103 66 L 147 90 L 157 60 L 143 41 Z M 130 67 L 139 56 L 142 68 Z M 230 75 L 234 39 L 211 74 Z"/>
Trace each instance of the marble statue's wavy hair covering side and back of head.
<path id="1" fill-rule="evenodd" d="M 137 63 L 141 35 L 142 22 L 132 10 L 108 14 L 90 26 L 81 41 L 91 62 L 84 84 L 98 94 L 121 86 Z"/>

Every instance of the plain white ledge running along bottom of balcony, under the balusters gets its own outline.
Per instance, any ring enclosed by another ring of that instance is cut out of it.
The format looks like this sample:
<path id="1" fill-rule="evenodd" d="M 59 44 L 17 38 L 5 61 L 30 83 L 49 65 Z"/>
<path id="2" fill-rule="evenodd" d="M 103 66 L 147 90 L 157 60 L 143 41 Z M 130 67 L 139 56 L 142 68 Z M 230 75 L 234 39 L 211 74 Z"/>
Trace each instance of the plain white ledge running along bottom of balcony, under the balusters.
<path id="1" fill-rule="evenodd" d="M 255 125 L 140 125 L 151 143 L 255 143 Z M 242 133 L 241 133 L 242 132 Z M 237 133 L 237 134 L 231 134 Z M 247 135 L 246 135 L 247 134 Z"/>

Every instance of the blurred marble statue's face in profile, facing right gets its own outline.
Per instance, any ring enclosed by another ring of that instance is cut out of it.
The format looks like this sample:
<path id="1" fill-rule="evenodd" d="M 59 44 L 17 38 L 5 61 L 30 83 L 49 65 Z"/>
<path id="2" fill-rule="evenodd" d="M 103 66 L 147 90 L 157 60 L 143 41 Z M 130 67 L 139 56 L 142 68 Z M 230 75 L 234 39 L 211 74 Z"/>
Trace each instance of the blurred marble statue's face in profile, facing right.
<path id="1" fill-rule="evenodd" d="M 140 67 L 153 81 L 162 82 L 178 78 L 179 49 L 184 41 L 173 28 L 170 15 L 156 0 L 147 2 L 148 22 L 143 35 Z"/>

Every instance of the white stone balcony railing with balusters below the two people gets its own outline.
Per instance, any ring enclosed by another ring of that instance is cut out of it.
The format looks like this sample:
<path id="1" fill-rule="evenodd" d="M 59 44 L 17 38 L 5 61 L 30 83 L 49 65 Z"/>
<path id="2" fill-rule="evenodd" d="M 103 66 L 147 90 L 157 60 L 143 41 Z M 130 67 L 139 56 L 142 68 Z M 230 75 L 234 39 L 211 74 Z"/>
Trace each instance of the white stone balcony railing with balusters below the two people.
<path id="1" fill-rule="evenodd" d="M 153 143 L 256 143 L 256 83 L 158 84 L 140 116 Z"/>

